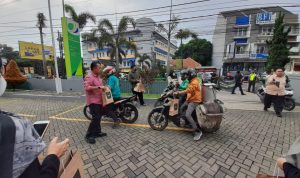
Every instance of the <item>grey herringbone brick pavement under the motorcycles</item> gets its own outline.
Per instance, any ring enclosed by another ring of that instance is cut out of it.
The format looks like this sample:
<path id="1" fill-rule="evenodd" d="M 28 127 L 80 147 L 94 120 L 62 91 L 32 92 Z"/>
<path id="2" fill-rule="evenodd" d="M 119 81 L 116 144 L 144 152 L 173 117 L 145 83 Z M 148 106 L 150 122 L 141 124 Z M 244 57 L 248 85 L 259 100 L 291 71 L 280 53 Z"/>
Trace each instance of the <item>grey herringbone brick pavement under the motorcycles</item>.
<path id="1" fill-rule="evenodd" d="M 50 92 L 7 92 L 0 98 L 0 109 L 32 121 L 51 120 L 44 140 L 69 138 L 71 149 L 79 149 L 87 177 L 256 177 L 272 174 L 275 160 L 287 153 L 300 134 L 299 112 L 264 112 L 258 97 L 218 92 L 227 108 L 220 130 L 204 134 L 195 142 L 186 130 L 159 132 L 149 128 L 147 115 L 154 100 L 140 107 L 135 124 L 111 128 L 105 119 L 102 127 L 108 134 L 95 145 L 84 136 L 89 121 L 82 110 L 81 93 L 56 95 Z"/>

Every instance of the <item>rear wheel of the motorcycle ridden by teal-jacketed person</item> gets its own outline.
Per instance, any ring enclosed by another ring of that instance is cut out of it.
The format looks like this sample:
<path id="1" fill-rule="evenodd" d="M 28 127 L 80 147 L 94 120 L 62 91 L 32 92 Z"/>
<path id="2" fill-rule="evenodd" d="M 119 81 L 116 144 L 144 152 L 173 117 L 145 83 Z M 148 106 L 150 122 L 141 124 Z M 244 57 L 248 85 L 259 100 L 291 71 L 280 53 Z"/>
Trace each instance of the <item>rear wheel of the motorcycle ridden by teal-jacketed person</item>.
<path id="1" fill-rule="evenodd" d="M 120 116 L 124 123 L 132 124 L 138 119 L 139 112 L 133 104 L 125 103 L 122 106 L 122 111 L 120 113 Z"/>

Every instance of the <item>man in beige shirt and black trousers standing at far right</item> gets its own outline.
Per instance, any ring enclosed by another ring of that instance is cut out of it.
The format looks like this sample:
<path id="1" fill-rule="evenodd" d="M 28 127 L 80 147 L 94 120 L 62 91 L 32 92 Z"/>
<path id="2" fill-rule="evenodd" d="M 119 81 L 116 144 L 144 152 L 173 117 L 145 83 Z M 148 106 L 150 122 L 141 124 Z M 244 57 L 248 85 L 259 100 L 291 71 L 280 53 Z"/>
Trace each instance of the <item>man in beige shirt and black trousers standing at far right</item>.
<path id="1" fill-rule="evenodd" d="M 286 77 L 283 68 L 275 70 L 274 75 L 269 76 L 266 82 L 266 94 L 264 99 L 264 110 L 268 111 L 271 104 L 274 104 L 274 110 L 278 117 L 282 117 L 284 107 Z"/>

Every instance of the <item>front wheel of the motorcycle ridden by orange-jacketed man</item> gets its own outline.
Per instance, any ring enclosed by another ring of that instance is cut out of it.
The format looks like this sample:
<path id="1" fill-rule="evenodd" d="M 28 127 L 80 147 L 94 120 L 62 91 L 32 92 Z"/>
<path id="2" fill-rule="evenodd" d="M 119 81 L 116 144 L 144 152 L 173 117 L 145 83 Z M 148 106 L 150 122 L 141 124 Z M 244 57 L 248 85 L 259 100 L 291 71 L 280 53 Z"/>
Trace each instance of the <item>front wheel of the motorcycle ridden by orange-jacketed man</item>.
<path id="1" fill-rule="evenodd" d="M 162 131 L 168 126 L 168 119 L 161 113 L 162 109 L 153 109 L 148 115 L 148 124 L 153 130 Z"/>

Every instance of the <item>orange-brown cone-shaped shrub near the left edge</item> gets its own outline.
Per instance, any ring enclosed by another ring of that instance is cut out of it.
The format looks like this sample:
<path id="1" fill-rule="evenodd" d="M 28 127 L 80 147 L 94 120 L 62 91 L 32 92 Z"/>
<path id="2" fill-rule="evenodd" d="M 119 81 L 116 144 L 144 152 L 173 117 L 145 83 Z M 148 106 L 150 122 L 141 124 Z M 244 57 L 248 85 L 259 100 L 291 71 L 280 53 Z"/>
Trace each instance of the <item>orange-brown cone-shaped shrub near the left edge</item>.
<path id="1" fill-rule="evenodd" d="M 8 62 L 4 78 L 7 83 L 13 87 L 13 89 L 15 89 L 17 85 L 22 84 L 27 80 L 27 78 L 21 74 L 21 71 L 15 60 L 10 60 Z"/>

